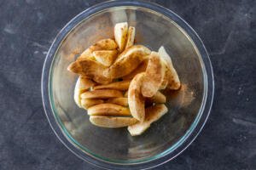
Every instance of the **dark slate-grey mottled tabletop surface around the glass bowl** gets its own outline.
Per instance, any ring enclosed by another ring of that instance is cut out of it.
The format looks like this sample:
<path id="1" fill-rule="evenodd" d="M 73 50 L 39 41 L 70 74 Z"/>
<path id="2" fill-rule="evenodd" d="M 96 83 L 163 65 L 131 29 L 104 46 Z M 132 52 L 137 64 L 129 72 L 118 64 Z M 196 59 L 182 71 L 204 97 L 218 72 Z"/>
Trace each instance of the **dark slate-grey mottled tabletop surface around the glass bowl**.
<path id="1" fill-rule="evenodd" d="M 98 169 L 55 137 L 40 93 L 45 55 L 76 14 L 100 1 L 0 0 L 0 169 Z M 154 1 L 205 43 L 215 77 L 209 120 L 161 169 L 256 169 L 255 1 Z"/>

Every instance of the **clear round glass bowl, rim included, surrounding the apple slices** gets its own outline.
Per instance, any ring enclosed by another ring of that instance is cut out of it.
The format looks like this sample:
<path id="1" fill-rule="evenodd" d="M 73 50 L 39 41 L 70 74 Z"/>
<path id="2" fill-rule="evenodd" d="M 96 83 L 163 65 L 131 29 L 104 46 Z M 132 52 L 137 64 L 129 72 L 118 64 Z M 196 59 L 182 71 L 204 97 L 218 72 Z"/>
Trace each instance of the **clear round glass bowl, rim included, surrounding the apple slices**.
<path id="1" fill-rule="evenodd" d="M 165 46 L 182 82 L 166 91 L 168 113 L 141 136 L 124 128 L 96 127 L 73 100 L 77 76 L 67 65 L 92 43 L 113 38 L 113 26 L 136 27 L 136 43 L 154 51 Z M 42 74 L 42 96 L 49 124 L 67 149 L 84 161 L 108 169 L 156 167 L 186 149 L 207 121 L 213 76 L 207 50 L 195 31 L 177 14 L 154 3 L 110 1 L 73 18 L 49 48 Z"/>

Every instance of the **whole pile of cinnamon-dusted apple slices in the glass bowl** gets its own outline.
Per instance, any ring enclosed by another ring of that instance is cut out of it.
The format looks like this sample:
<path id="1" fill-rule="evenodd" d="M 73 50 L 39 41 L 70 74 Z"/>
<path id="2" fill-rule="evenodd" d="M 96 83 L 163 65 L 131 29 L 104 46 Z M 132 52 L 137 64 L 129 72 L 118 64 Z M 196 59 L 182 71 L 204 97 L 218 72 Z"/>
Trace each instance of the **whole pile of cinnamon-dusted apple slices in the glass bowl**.
<path id="1" fill-rule="evenodd" d="M 74 100 L 99 127 L 128 127 L 132 136 L 145 132 L 168 111 L 160 91 L 177 90 L 180 81 L 164 47 L 158 52 L 134 45 L 135 27 L 114 26 L 114 40 L 87 48 L 67 70 L 79 74 Z"/>

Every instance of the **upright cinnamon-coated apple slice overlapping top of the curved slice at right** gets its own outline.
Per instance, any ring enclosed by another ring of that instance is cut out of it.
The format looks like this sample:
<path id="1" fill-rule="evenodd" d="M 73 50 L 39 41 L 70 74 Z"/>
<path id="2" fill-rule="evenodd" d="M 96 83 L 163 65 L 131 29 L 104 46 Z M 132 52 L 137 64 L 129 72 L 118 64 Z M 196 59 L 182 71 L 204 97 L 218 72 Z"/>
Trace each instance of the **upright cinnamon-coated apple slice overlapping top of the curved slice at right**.
<path id="1" fill-rule="evenodd" d="M 142 94 L 144 97 L 150 98 L 156 94 L 165 77 L 165 71 L 166 67 L 161 62 L 159 54 L 152 52 L 149 56 L 148 67 L 142 86 Z"/>

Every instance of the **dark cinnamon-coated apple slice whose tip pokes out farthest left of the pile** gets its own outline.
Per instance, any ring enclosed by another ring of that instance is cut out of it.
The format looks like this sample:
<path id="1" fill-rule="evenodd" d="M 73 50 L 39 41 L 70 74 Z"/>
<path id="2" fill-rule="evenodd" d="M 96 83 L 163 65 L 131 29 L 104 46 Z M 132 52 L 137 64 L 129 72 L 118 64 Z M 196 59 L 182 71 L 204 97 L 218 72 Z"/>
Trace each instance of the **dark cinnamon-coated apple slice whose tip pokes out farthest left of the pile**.
<path id="1" fill-rule="evenodd" d="M 111 78 L 104 77 L 102 72 L 108 69 L 108 67 L 91 59 L 80 59 L 70 65 L 67 70 L 73 71 L 74 73 L 80 74 L 85 77 L 90 77 L 92 80 L 102 84 L 108 84 L 112 82 Z"/>

